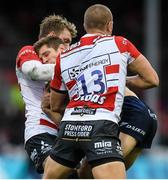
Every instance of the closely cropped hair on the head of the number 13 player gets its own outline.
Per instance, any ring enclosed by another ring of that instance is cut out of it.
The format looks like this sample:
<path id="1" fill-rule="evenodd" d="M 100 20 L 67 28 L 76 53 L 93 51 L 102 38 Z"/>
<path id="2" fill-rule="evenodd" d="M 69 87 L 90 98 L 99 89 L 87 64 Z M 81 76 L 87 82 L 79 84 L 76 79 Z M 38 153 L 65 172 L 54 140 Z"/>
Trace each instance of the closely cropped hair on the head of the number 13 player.
<path id="1" fill-rule="evenodd" d="M 105 25 L 113 20 L 111 10 L 102 4 L 90 6 L 84 14 L 85 29 L 97 28 L 104 30 Z"/>

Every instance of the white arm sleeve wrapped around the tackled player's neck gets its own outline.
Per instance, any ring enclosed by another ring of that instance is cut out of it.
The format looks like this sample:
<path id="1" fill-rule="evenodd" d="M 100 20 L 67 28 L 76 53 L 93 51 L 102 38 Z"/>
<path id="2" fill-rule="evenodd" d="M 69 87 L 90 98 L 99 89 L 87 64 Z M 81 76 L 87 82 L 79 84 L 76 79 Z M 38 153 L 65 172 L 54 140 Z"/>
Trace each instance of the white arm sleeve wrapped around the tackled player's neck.
<path id="1" fill-rule="evenodd" d="M 32 80 L 49 81 L 52 79 L 55 64 L 42 64 L 31 60 L 22 64 L 21 71 Z"/>

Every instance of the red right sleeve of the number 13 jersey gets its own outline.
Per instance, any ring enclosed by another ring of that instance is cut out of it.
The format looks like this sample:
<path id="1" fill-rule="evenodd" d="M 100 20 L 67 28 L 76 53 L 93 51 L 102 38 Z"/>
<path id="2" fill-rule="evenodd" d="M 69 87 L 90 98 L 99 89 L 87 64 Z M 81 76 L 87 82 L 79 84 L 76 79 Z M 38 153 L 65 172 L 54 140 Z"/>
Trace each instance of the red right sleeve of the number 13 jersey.
<path id="1" fill-rule="evenodd" d="M 130 56 L 135 59 L 141 54 L 128 39 L 121 36 L 115 36 L 114 38 L 121 53 L 130 53 Z"/>

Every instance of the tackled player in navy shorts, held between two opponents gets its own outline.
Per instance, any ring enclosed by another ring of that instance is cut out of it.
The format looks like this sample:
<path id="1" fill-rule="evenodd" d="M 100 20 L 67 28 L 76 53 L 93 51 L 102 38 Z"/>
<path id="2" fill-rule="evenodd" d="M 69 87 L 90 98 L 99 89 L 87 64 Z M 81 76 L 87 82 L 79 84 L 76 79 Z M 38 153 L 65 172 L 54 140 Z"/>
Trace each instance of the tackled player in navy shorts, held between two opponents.
<path id="1" fill-rule="evenodd" d="M 57 57 L 54 38 L 46 38 L 46 40 L 36 42 L 34 49 L 39 57 L 43 57 L 45 61 Z M 51 52 L 50 56 L 44 57 L 49 50 Z M 50 110 L 49 96 L 50 93 L 47 92 L 43 97 L 42 109 L 54 121 L 55 116 Z M 157 118 L 152 110 L 127 87 L 121 114 L 119 139 L 121 140 L 126 169 L 128 169 L 144 148 L 151 148 L 157 129 Z M 92 178 L 91 169 L 86 158 L 82 160 L 78 173 L 80 178 Z"/>

